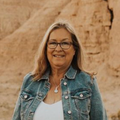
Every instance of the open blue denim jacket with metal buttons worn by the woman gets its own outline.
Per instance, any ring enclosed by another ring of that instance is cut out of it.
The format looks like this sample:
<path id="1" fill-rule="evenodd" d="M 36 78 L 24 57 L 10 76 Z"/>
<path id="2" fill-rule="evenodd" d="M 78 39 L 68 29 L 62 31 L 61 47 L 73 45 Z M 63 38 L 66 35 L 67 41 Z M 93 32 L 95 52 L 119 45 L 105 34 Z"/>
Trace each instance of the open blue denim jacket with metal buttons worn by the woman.
<path id="1" fill-rule="evenodd" d="M 31 73 L 24 77 L 12 120 L 33 120 L 50 89 L 49 73 L 37 81 Z M 61 80 L 61 91 L 64 120 L 107 120 L 95 78 L 70 67 Z"/>

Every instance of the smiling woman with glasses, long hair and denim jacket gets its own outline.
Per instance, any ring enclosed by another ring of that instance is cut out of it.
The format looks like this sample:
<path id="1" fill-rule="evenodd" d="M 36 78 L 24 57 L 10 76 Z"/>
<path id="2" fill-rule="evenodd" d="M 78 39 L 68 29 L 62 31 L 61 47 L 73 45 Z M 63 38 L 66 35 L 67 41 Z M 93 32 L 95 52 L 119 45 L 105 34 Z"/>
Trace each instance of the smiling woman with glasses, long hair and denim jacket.
<path id="1" fill-rule="evenodd" d="M 83 70 L 80 40 L 66 22 L 47 30 L 24 77 L 13 120 L 107 120 L 95 78 Z"/>

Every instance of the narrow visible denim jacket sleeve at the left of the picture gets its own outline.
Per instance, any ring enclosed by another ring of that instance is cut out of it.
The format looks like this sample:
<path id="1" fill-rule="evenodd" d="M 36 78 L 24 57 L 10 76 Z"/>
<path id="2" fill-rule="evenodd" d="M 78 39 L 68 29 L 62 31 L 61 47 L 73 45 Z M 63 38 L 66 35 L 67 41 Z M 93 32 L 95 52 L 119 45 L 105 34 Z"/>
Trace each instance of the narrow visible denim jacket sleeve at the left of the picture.
<path id="1" fill-rule="evenodd" d="M 26 86 L 26 83 L 28 82 L 28 79 L 30 78 L 30 73 L 28 73 L 24 79 L 23 79 L 23 84 L 21 86 L 21 90 L 19 92 L 19 96 L 18 96 L 18 100 L 16 102 L 16 106 L 15 106 L 15 109 L 14 109 L 14 113 L 13 113 L 13 116 L 12 116 L 12 120 L 21 120 L 21 116 L 20 116 L 20 112 L 21 112 L 21 99 L 20 99 L 20 95 L 23 91 L 23 89 L 25 88 Z"/>

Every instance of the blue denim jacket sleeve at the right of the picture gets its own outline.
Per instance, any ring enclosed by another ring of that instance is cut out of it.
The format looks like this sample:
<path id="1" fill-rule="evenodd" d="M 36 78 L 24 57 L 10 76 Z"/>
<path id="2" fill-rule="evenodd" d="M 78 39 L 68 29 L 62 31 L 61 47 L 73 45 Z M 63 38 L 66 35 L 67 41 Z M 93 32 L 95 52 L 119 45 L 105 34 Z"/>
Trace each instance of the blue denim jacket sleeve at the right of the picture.
<path id="1" fill-rule="evenodd" d="M 106 110 L 104 109 L 96 78 L 93 78 L 92 84 L 90 120 L 107 120 Z"/>

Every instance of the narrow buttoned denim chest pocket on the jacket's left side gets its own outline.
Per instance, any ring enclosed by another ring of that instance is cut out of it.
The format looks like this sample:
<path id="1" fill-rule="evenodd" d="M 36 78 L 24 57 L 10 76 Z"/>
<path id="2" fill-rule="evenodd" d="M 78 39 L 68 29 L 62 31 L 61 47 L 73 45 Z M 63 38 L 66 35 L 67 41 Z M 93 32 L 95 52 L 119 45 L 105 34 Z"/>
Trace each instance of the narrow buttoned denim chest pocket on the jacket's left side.
<path id="1" fill-rule="evenodd" d="M 27 91 L 23 91 L 20 97 L 21 97 L 21 115 L 23 117 L 26 111 L 29 109 L 30 105 L 32 104 L 34 96 Z"/>

